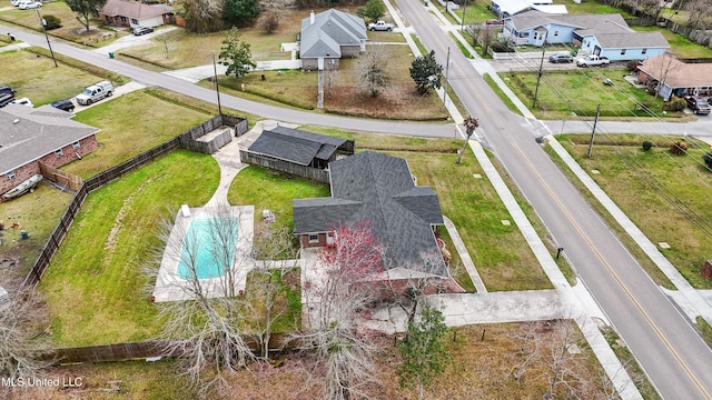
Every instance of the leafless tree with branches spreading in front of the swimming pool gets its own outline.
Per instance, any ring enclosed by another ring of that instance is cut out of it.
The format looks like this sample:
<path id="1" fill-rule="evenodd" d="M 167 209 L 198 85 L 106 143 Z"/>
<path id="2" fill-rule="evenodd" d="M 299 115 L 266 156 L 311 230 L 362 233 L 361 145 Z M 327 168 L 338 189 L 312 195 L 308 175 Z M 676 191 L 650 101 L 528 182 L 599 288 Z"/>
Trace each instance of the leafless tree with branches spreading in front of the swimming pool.
<path id="1" fill-rule="evenodd" d="M 239 213 L 219 207 L 206 217 L 190 221 L 202 224 L 201 230 L 198 226 L 189 229 L 182 216 L 175 223 L 161 224 L 160 238 L 166 246 L 156 249 L 156 261 L 178 262 L 178 277 L 160 271 L 155 263 L 148 268 L 177 300 L 157 303 L 165 321 L 159 337 L 169 343 L 164 352 L 178 356 L 181 373 L 202 390 L 224 383 L 224 372 L 246 367 L 256 358 L 243 338 L 247 330 L 243 320 L 249 310 L 239 289 L 246 271 L 235 264 L 241 237 Z"/>

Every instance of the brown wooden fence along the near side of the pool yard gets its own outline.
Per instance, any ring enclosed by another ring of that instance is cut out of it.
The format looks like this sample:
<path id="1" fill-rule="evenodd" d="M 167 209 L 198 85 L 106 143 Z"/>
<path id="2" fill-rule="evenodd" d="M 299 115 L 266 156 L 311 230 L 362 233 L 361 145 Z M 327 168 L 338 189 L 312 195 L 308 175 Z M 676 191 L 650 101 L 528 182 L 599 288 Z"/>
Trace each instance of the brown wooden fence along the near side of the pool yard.
<path id="1" fill-rule="evenodd" d="M 245 336 L 243 339 L 253 352 L 259 353 L 259 337 Z M 289 343 L 288 339 L 289 336 L 287 333 L 273 333 L 269 340 L 269 349 L 273 351 L 293 349 L 295 346 L 294 343 Z M 144 342 L 61 348 L 48 351 L 42 356 L 42 360 L 52 361 L 57 364 L 67 364 L 78 362 L 125 361 L 154 357 L 180 357 L 179 353 L 168 352 L 168 349 L 172 348 L 175 344 L 181 344 L 181 342 L 150 340 Z"/>

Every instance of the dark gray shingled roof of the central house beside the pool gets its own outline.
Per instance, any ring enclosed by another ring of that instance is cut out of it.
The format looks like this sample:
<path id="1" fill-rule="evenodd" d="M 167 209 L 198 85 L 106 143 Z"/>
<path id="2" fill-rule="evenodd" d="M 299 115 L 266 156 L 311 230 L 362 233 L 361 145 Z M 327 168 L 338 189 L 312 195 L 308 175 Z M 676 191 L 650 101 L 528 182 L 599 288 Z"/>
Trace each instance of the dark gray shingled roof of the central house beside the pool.
<path id="1" fill-rule="evenodd" d="M 294 231 L 325 232 L 339 223 L 368 221 L 386 247 L 389 268 L 423 271 L 423 254 L 434 254 L 435 270 L 447 276 L 432 224 L 443 223 L 437 194 L 413 183 L 404 159 L 364 151 L 329 164 L 332 198 L 294 200 Z"/>

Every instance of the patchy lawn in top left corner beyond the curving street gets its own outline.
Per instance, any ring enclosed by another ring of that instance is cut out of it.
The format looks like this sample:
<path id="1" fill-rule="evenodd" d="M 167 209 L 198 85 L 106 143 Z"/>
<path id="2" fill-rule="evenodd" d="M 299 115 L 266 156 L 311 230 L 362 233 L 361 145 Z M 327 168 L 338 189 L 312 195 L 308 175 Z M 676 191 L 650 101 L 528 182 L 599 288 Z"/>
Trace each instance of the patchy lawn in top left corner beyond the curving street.
<path id="1" fill-rule="evenodd" d="M 7 4 L 11 7 L 9 1 Z M 48 31 L 48 34 L 83 46 L 99 48 L 127 34 L 122 31 L 103 28 L 101 21 L 96 19 L 90 19 L 90 31 L 86 32 L 85 26 L 77 20 L 77 14 L 63 1 L 44 2 L 40 13 L 55 16 L 61 21 L 62 26 Z M 0 20 L 42 32 L 42 26 L 36 10 L 13 8 L 13 10 L 0 11 Z"/>

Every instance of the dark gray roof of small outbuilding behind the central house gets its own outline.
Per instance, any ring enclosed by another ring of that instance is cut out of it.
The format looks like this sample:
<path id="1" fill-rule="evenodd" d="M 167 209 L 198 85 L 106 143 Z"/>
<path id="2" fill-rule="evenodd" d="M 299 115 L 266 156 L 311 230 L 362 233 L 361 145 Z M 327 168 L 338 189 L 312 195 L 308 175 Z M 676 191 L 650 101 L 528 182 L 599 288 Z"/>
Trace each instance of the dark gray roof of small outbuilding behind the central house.
<path id="1" fill-rule="evenodd" d="M 248 150 L 300 166 L 308 166 L 315 158 L 328 160 L 344 142 L 346 139 L 276 127 L 263 131 Z"/>

